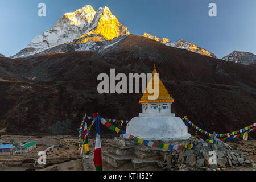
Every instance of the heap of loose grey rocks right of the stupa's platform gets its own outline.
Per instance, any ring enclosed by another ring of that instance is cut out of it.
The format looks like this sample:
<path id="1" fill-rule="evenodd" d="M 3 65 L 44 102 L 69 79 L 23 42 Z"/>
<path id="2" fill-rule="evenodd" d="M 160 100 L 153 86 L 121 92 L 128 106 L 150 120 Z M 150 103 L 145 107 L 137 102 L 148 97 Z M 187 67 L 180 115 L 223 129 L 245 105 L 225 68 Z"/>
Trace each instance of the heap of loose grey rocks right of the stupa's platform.
<path id="1" fill-rule="evenodd" d="M 217 164 L 208 164 L 210 151 L 216 152 Z M 247 152 L 233 150 L 228 144 L 218 140 L 216 143 L 199 143 L 191 150 L 174 151 L 169 155 L 168 162 L 170 168 L 183 171 L 202 169 L 219 171 L 233 166 L 251 166 L 252 162 L 247 155 Z"/>

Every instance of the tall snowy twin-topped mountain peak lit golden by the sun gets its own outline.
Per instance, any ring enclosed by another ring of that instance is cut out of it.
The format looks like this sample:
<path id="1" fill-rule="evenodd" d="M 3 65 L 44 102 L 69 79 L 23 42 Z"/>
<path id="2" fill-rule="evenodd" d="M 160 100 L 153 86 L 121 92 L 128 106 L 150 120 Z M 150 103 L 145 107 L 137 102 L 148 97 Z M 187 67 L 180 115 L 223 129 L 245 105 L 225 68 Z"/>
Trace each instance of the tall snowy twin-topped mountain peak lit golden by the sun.
<path id="1" fill-rule="evenodd" d="M 65 13 L 55 26 L 42 35 L 36 36 L 26 48 L 12 57 L 35 55 L 63 44 L 82 44 L 80 47 L 86 50 L 88 41 L 90 41 L 89 46 L 93 46 L 94 42 L 111 40 L 117 36 L 128 34 L 130 32 L 108 7 L 100 7 L 95 12 L 92 6 L 86 5 L 75 12 Z"/>

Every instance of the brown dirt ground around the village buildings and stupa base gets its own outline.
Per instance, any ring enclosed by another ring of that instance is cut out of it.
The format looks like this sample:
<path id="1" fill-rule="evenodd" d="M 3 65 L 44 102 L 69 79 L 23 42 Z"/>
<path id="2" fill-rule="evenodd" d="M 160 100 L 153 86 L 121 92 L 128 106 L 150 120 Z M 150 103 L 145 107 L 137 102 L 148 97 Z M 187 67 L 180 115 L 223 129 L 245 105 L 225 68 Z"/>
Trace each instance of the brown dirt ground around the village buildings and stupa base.
<path id="1" fill-rule="evenodd" d="M 16 141 L 26 140 L 28 137 L 13 137 L 13 138 L 5 138 L 2 137 L 1 140 L 10 140 L 14 139 Z M 60 143 L 60 140 L 63 143 L 63 146 L 57 146 Z M 56 145 L 53 151 L 51 151 L 46 157 L 46 163 L 48 166 L 44 169 L 37 169 L 42 171 L 81 171 L 82 170 L 82 160 L 81 155 L 78 152 L 78 139 L 76 137 L 72 137 L 70 135 L 56 135 L 56 136 L 47 136 L 47 137 L 32 137 L 28 140 L 28 142 L 36 142 L 38 143 L 38 148 L 34 151 L 45 150 L 47 147 L 45 144 L 54 144 Z M 102 151 L 107 150 L 107 144 L 113 143 L 113 138 L 102 138 L 101 146 Z M 93 163 L 93 151 L 94 151 L 95 139 L 89 138 L 89 150 L 90 155 L 86 159 L 86 170 L 94 171 L 94 163 Z M 252 167 L 232 167 L 226 168 L 224 170 L 228 171 L 251 171 L 256 166 L 256 141 L 241 141 L 238 143 L 228 143 L 232 148 L 240 151 L 245 151 L 249 153 L 249 158 L 254 161 L 254 166 Z M 33 167 L 4 167 L 2 164 L 21 164 L 24 159 L 34 159 L 38 160 L 39 157 L 32 156 L 2 156 L 0 155 L 0 171 L 24 171 L 26 169 L 31 169 Z M 122 167 L 112 167 L 108 163 L 103 163 L 104 170 L 108 171 L 129 171 L 134 170 L 132 164 L 125 164 Z M 161 170 L 160 167 L 143 167 L 139 168 L 138 171 L 155 171 Z"/>

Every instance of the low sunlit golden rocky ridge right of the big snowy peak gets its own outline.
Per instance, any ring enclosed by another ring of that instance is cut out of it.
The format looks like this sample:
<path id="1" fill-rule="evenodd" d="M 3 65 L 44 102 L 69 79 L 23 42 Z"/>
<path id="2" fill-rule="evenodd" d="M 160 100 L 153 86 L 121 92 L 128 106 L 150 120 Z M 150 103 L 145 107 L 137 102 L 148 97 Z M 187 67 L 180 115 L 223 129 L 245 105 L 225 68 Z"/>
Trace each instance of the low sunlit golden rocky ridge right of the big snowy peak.
<path id="1" fill-rule="evenodd" d="M 160 43 L 166 44 L 166 46 L 172 46 L 172 47 L 177 47 L 177 48 L 181 48 L 181 49 L 186 49 L 191 52 L 200 53 L 201 55 L 217 58 L 217 56 L 215 56 L 213 53 L 205 50 L 204 48 L 198 47 L 198 46 L 196 46 L 196 44 L 187 42 L 182 39 L 177 40 L 177 42 L 171 42 L 167 38 L 158 38 L 155 35 L 151 35 L 151 34 L 147 34 L 147 33 L 144 33 L 142 36 L 156 40 Z"/>

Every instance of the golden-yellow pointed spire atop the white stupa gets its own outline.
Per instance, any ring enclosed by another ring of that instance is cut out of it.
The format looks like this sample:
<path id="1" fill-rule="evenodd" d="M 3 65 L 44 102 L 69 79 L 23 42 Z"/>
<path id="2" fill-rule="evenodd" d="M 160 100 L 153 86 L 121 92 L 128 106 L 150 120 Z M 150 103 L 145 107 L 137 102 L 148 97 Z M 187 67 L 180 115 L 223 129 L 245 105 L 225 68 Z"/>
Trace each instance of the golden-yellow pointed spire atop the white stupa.
<path id="1" fill-rule="evenodd" d="M 139 101 L 139 103 L 153 103 L 153 102 L 158 102 L 158 103 L 172 103 L 174 102 L 174 99 L 170 96 L 170 94 L 168 93 L 166 87 L 164 86 L 163 82 L 160 80 L 160 78 L 157 76 L 158 78 L 158 84 L 159 84 L 159 94 L 158 94 L 158 98 L 156 100 L 149 100 L 148 96 L 153 96 L 154 93 L 148 93 L 148 86 L 150 84 L 152 84 L 152 89 L 154 89 L 154 74 L 157 74 L 158 72 L 156 71 L 156 67 L 154 65 L 154 69 L 152 72 L 152 78 L 150 80 L 150 82 L 147 85 L 147 88 L 145 90 L 145 92 L 143 93 L 143 96 L 141 98 L 141 100 Z"/>

